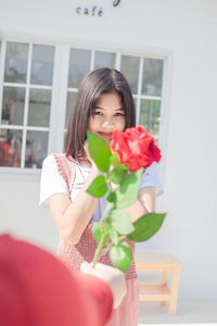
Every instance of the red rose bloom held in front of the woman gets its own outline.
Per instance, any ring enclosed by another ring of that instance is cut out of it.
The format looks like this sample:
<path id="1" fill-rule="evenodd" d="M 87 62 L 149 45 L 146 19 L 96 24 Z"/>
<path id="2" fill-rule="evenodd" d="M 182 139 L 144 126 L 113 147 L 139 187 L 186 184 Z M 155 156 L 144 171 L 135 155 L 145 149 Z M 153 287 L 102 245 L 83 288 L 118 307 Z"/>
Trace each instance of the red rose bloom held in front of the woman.
<path id="1" fill-rule="evenodd" d="M 161 151 L 154 137 L 142 126 L 113 133 L 111 148 L 119 156 L 122 164 L 127 164 L 130 172 L 145 168 L 161 160 Z"/>

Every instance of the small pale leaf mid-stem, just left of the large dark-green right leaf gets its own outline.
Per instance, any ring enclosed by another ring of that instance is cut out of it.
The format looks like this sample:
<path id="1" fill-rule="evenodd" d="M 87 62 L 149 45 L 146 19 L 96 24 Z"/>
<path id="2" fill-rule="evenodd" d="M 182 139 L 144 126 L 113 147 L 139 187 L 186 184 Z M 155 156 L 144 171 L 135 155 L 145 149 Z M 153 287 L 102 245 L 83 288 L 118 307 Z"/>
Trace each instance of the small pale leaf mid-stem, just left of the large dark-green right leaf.
<path id="1" fill-rule="evenodd" d="M 135 230 L 133 224 L 129 220 L 129 215 L 122 210 L 114 210 L 111 220 L 112 226 L 122 236 L 129 235 Z"/>

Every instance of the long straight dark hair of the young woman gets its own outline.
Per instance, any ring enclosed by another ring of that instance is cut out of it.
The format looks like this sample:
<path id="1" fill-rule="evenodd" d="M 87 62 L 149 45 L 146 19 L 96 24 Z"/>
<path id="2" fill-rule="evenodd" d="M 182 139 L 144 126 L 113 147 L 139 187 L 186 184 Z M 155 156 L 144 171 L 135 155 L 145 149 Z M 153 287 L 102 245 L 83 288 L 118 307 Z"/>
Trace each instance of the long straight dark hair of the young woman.
<path id="1" fill-rule="evenodd" d="M 66 139 L 66 156 L 81 162 L 85 159 L 84 143 L 90 114 L 94 111 L 100 97 L 116 92 L 125 112 L 125 129 L 136 125 L 136 109 L 131 89 L 125 76 L 108 67 L 101 67 L 89 73 L 80 84 L 75 108 L 71 114 Z"/>

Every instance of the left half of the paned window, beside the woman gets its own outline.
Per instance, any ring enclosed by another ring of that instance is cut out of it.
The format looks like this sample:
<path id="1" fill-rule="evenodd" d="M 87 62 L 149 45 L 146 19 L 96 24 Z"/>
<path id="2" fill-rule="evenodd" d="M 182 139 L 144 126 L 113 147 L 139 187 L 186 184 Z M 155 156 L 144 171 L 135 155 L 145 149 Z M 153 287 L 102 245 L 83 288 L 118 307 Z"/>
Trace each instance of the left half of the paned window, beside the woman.
<path id="1" fill-rule="evenodd" d="M 54 47 L 4 47 L 0 166 L 41 167 L 48 152 Z"/>

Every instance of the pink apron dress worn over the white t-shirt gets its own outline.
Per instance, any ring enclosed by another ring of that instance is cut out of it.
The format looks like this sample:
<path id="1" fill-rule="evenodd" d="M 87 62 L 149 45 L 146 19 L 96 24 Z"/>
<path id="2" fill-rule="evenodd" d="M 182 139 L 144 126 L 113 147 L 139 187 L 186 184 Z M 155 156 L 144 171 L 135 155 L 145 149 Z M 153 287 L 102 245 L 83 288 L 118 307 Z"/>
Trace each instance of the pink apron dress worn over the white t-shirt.
<path id="1" fill-rule="evenodd" d="M 63 155 L 55 155 L 59 172 L 66 180 L 68 187 L 75 178 L 74 163 Z M 66 168 L 67 166 L 67 168 Z M 135 252 L 135 243 L 128 241 Z M 79 271 L 82 261 L 92 262 L 93 253 L 97 249 L 97 242 L 92 237 L 90 227 L 87 226 L 79 242 L 75 246 L 60 240 L 58 255 L 72 271 Z M 112 265 L 108 254 L 100 259 L 100 262 L 106 265 Z M 127 283 L 127 294 L 122 304 L 113 310 L 111 319 L 106 326 L 137 326 L 139 315 L 139 286 L 136 274 L 135 260 L 130 268 L 125 274 Z M 102 303 L 103 304 L 103 303 Z M 91 317 L 91 316 L 90 316 Z"/>

